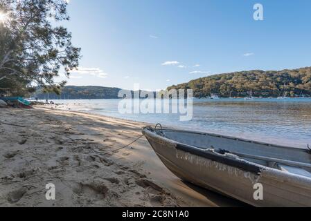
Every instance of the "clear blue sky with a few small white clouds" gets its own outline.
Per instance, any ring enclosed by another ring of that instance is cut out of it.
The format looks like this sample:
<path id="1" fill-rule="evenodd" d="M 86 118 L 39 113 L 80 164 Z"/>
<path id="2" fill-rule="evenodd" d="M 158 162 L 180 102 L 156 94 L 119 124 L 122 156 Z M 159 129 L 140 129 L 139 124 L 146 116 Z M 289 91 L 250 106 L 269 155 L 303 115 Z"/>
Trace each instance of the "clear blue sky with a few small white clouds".
<path id="1" fill-rule="evenodd" d="M 256 3 L 263 20 L 254 19 Z M 311 66 L 309 0 L 71 0 L 68 12 L 64 26 L 82 59 L 67 85 L 159 90 L 218 73 Z"/>

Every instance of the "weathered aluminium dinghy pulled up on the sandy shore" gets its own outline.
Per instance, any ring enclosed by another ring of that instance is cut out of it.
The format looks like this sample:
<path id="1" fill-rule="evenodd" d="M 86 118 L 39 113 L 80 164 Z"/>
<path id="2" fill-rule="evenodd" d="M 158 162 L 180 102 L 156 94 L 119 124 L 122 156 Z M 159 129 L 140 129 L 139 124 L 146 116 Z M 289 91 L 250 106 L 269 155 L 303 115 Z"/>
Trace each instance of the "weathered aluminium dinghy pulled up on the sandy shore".
<path id="1" fill-rule="evenodd" d="M 187 182 L 253 206 L 311 206 L 311 151 L 145 127 L 163 164 Z"/>

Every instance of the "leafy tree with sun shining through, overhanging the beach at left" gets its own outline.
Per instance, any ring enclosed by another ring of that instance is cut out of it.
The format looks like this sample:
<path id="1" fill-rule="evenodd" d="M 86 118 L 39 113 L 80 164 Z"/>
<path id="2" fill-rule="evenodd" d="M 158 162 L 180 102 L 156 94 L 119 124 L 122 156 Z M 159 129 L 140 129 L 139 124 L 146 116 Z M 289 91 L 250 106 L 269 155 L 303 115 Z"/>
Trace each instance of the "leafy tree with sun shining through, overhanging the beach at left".
<path id="1" fill-rule="evenodd" d="M 66 0 L 0 0 L 0 94 L 21 94 L 34 87 L 58 90 L 62 69 L 78 68 L 80 48 L 71 44 Z"/>

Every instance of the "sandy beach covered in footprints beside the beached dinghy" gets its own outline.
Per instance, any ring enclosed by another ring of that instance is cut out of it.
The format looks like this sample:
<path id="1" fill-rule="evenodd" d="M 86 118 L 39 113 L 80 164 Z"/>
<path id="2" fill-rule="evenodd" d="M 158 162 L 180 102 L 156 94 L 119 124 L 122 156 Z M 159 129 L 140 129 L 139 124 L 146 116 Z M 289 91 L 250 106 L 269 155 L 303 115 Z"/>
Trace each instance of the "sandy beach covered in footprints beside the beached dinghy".
<path id="1" fill-rule="evenodd" d="M 1 108 L 0 206 L 245 205 L 179 180 L 145 137 L 126 146 L 143 126 L 51 107 Z M 55 200 L 46 200 L 48 183 Z"/>

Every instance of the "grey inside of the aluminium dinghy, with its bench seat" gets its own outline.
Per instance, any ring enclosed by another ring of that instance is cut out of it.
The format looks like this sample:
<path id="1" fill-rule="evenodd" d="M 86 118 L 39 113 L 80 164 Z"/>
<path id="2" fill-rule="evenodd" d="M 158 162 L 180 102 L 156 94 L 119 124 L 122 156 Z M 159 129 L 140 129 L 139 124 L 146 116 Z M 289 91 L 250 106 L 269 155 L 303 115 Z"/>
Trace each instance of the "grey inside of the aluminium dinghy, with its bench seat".
<path id="1" fill-rule="evenodd" d="M 249 162 L 311 178 L 311 151 L 307 144 L 302 149 L 192 131 L 161 129 L 157 133 L 202 151 L 231 153 Z"/>

